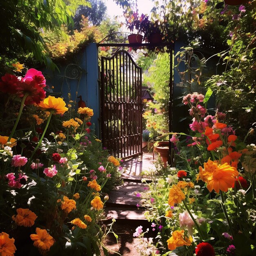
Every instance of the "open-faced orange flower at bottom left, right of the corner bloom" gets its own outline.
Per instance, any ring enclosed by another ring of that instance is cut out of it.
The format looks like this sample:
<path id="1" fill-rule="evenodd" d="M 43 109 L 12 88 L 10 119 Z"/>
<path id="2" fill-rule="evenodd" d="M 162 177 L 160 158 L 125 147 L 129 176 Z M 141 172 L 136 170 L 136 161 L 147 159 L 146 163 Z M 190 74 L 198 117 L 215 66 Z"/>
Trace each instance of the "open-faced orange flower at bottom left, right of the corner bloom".
<path id="1" fill-rule="evenodd" d="M 33 245 L 38 247 L 41 253 L 49 251 L 55 243 L 54 238 L 47 233 L 46 229 L 40 229 L 39 227 L 36 228 L 36 234 L 31 234 L 30 238 L 34 241 Z"/>

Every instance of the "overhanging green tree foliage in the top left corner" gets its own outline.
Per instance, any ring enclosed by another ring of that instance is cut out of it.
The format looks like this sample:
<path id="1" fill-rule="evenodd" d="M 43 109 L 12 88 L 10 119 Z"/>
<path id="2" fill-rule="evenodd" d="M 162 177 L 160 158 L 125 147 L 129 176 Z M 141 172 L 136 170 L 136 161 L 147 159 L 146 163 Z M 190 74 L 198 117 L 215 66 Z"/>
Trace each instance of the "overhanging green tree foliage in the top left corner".
<path id="1" fill-rule="evenodd" d="M 7 62 L 27 58 L 55 65 L 49 58 L 41 31 L 58 33 L 62 24 L 72 24 L 73 11 L 63 0 L 7 0 L 0 2 L 0 72 L 4 73 Z M 34 61 L 33 60 L 33 61 Z M 32 60 L 31 60 L 32 61 Z"/>

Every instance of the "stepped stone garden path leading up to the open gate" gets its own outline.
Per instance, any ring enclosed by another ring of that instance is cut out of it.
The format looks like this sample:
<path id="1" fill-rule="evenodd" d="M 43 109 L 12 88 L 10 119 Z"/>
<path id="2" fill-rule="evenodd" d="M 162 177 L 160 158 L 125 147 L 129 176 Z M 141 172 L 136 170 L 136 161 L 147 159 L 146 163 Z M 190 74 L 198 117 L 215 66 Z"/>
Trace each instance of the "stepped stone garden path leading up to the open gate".
<path id="1" fill-rule="evenodd" d="M 145 209 L 137 207 L 137 204 L 141 202 L 136 195 L 144 191 L 145 183 L 141 183 L 143 171 L 155 171 L 153 153 L 144 152 L 143 157 L 130 159 L 123 163 L 123 167 L 124 184 L 117 186 L 109 193 L 109 200 L 106 204 L 108 222 L 111 223 L 113 218 L 116 219 L 113 230 L 118 235 L 118 243 L 114 235 L 109 234 L 104 244 L 108 249 L 119 252 L 122 256 L 139 256 L 140 254 L 136 250 L 139 238 L 132 235 L 136 227 L 141 225 L 146 230 L 150 227 L 150 223 L 144 217 Z M 152 234 L 147 234 L 148 237 L 150 235 L 152 237 Z M 119 254 L 109 252 L 109 255 L 117 256 Z"/>

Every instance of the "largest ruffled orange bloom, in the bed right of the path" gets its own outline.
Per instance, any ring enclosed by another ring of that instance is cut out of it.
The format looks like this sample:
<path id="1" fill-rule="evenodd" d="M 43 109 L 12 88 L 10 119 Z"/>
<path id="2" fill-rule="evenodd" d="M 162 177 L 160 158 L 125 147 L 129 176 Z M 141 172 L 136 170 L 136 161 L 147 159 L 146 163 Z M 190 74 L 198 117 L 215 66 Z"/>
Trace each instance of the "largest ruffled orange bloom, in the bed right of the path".
<path id="1" fill-rule="evenodd" d="M 201 167 L 201 166 L 200 166 Z M 207 189 L 213 189 L 219 193 L 220 190 L 227 192 L 231 188 L 238 176 L 238 171 L 235 167 L 224 164 L 217 164 L 210 159 L 204 163 L 204 169 L 199 168 L 198 179 L 207 182 Z"/>

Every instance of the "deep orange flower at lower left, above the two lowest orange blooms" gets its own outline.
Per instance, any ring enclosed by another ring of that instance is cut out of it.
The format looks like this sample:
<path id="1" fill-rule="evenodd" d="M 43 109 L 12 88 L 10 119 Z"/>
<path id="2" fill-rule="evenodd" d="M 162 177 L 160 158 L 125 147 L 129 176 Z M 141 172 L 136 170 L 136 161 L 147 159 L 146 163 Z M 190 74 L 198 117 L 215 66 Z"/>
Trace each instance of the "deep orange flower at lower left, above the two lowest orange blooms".
<path id="1" fill-rule="evenodd" d="M 35 224 L 37 216 L 33 211 L 22 208 L 19 208 L 16 211 L 17 215 L 13 215 L 12 219 L 18 226 L 32 227 Z"/>

